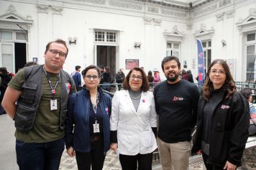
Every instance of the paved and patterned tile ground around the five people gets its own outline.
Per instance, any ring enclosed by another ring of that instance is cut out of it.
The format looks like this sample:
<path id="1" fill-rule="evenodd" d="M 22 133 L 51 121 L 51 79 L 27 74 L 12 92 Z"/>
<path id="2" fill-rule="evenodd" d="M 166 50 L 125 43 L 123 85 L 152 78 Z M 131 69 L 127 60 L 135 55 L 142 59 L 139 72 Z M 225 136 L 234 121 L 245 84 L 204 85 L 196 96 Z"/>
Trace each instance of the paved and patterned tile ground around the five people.
<path id="1" fill-rule="evenodd" d="M 15 155 L 15 137 L 14 137 L 14 122 L 6 115 L 0 115 L 0 170 L 17 170 L 19 167 L 16 164 Z M 158 157 L 153 162 L 154 170 L 161 170 L 161 165 Z M 69 157 L 64 151 L 61 164 L 61 170 L 77 170 L 76 159 Z M 120 163 L 116 158 L 113 151 L 109 151 L 104 163 L 104 170 L 119 170 L 121 169 Z M 202 157 L 196 155 L 189 159 L 189 170 L 202 170 L 205 169 Z M 255 170 L 256 169 L 256 147 L 249 148 L 244 151 L 243 166 L 241 170 Z"/>

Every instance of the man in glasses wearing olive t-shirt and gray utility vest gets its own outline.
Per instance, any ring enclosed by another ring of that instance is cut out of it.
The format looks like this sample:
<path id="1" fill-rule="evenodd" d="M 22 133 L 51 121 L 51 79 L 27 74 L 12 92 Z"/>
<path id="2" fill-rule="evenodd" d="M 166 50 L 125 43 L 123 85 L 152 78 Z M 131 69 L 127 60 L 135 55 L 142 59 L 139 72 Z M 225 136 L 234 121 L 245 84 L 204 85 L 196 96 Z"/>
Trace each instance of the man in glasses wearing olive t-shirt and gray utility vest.
<path id="1" fill-rule="evenodd" d="M 2 104 L 15 121 L 20 170 L 59 169 L 68 96 L 76 91 L 72 77 L 61 69 L 67 54 L 65 41 L 49 42 L 44 65 L 23 68 L 8 84 Z"/>

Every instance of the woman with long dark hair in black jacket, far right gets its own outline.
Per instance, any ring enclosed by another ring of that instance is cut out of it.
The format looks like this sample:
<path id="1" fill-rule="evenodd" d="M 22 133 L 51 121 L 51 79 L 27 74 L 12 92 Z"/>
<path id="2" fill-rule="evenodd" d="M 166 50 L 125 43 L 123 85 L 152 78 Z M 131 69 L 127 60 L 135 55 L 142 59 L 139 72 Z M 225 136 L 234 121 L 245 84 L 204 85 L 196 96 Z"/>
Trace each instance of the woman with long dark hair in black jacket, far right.
<path id="1" fill-rule="evenodd" d="M 207 71 L 198 102 L 198 121 L 192 153 L 202 154 L 207 169 L 233 170 L 241 158 L 249 127 L 248 102 L 236 91 L 230 69 L 215 59 Z"/>

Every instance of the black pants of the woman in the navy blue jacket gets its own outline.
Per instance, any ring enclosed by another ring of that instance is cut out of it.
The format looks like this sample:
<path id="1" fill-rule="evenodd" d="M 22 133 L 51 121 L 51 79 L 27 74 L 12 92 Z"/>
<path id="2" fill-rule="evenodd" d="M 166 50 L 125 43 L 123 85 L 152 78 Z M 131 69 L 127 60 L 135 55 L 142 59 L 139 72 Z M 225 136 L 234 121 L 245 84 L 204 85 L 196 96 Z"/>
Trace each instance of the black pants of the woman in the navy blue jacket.
<path id="1" fill-rule="evenodd" d="M 78 170 L 102 170 L 106 155 L 103 152 L 103 139 L 91 143 L 91 151 L 83 153 L 76 151 Z"/>

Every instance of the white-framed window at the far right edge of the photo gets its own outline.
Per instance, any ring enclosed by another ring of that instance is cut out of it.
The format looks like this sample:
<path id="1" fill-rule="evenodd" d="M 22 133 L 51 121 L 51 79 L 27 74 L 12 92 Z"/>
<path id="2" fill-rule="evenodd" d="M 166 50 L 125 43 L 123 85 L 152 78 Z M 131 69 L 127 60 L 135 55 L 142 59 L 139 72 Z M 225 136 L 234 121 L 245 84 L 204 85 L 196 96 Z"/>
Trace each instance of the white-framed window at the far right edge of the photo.
<path id="1" fill-rule="evenodd" d="M 256 52 L 256 32 L 246 34 L 245 54 L 246 54 L 246 81 L 255 81 L 255 52 Z"/>

